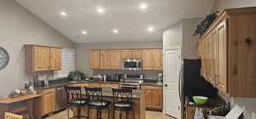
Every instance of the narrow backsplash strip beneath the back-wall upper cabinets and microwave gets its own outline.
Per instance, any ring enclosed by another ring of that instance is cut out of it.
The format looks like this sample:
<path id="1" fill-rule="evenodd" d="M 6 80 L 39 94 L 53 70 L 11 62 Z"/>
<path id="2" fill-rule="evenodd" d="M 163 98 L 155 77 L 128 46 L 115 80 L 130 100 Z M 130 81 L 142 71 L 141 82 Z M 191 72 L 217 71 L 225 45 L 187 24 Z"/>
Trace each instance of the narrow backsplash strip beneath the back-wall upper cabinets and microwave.
<path id="1" fill-rule="evenodd" d="M 108 74 L 143 74 L 144 78 L 157 78 L 158 74 L 163 74 L 163 71 L 119 71 L 119 70 L 94 70 L 93 75 L 108 75 Z"/>

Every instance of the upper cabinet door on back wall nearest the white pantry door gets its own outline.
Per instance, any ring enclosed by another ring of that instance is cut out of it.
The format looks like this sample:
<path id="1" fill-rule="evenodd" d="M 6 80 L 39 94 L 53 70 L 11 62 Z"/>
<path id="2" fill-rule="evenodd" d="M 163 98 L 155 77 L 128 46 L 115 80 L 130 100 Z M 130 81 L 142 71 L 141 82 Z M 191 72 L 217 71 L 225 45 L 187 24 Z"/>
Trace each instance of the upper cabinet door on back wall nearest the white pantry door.
<path id="1" fill-rule="evenodd" d="M 163 51 L 161 49 L 152 49 L 152 69 L 156 71 L 163 70 Z"/>

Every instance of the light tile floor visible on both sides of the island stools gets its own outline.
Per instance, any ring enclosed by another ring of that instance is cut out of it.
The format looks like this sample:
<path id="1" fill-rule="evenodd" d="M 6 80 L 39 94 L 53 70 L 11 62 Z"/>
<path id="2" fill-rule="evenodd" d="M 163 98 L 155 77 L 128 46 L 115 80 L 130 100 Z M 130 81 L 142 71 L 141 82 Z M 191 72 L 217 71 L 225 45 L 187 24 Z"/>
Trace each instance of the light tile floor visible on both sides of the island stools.
<path id="1" fill-rule="evenodd" d="M 46 117 L 45 119 L 67 119 L 67 111 L 61 111 L 55 115 Z M 162 112 L 146 111 L 146 119 L 174 119 L 171 116 L 166 116 Z"/>

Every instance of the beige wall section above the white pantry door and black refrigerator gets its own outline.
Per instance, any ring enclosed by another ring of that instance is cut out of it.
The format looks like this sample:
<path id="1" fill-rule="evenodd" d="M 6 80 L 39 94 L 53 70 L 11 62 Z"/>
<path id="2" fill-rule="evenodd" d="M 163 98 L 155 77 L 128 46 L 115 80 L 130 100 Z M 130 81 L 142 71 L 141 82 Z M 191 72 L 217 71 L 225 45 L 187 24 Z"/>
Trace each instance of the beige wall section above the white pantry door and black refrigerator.
<path id="1" fill-rule="evenodd" d="M 182 48 L 184 59 L 197 59 L 198 36 L 192 36 L 201 19 L 184 19 L 163 32 L 164 48 Z"/>

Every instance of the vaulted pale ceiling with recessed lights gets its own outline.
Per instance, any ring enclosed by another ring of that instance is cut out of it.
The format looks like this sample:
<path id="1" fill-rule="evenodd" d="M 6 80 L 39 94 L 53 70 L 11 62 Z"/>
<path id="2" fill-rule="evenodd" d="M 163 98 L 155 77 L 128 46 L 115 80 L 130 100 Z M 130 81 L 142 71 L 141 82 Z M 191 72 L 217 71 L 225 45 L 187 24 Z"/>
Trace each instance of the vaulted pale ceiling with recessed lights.
<path id="1" fill-rule="evenodd" d="M 214 4 L 214 0 L 16 0 L 16 2 L 73 42 L 160 41 L 162 31 L 167 26 L 178 20 L 202 17 L 211 12 Z M 102 10 L 102 13 L 99 10 Z"/>

